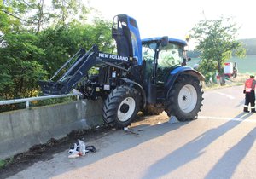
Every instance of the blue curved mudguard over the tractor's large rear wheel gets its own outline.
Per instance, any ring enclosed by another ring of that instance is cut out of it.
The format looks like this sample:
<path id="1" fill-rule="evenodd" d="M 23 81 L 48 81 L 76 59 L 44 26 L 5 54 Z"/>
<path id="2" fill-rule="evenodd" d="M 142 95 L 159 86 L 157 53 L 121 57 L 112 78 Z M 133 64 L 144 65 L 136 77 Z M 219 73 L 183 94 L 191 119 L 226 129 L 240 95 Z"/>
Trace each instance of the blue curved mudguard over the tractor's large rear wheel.
<path id="1" fill-rule="evenodd" d="M 173 69 L 170 72 L 169 77 L 166 81 L 166 86 L 165 86 L 166 96 L 169 96 L 169 93 L 172 89 L 173 84 L 175 83 L 177 78 L 183 74 L 188 74 L 189 76 L 198 78 L 200 81 L 205 80 L 205 77 L 201 74 L 201 72 L 198 72 L 189 66 L 178 66 L 177 68 Z"/>

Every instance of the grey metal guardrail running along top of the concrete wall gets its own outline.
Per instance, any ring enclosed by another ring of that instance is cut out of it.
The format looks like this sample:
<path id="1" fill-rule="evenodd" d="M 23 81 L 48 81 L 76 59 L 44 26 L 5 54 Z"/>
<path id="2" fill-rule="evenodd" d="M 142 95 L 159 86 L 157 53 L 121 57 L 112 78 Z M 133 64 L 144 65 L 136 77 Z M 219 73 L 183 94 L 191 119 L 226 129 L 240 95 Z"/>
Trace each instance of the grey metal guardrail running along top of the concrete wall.
<path id="1" fill-rule="evenodd" d="M 8 104 L 26 102 L 26 108 L 29 108 L 29 103 L 31 101 L 49 100 L 49 99 L 69 97 L 69 96 L 77 96 L 77 100 L 79 100 L 80 95 L 81 95 L 80 93 L 73 93 L 73 94 L 67 94 L 67 95 L 46 95 L 46 96 L 39 96 L 39 97 L 30 97 L 30 98 L 6 100 L 6 101 L 0 101 L 0 106 L 1 105 L 8 105 Z"/>

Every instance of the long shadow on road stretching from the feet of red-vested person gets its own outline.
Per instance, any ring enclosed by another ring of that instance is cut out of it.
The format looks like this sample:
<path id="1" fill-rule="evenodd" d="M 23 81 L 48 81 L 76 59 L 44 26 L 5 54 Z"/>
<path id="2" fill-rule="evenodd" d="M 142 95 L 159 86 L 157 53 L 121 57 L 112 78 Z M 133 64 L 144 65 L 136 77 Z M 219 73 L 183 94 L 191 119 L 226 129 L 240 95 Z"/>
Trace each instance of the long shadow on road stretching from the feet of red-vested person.
<path id="1" fill-rule="evenodd" d="M 220 136 L 223 136 L 232 128 L 236 127 L 236 125 L 240 124 L 242 120 L 249 118 L 251 115 L 253 115 L 253 113 L 240 113 L 234 117 L 236 119 L 239 118 L 240 120 L 230 120 L 218 128 L 207 130 L 201 136 L 198 136 L 194 140 L 189 141 L 189 143 L 185 144 L 183 147 L 178 148 L 174 152 L 167 155 L 165 158 L 160 159 L 154 163 L 154 165 L 149 166 L 143 178 L 148 179 L 165 176 L 166 174 L 170 174 L 173 170 L 177 170 L 177 168 L 180 166 L 185 165 L 190 161 L 200 157 L 201 154 L 203 154 L 203 149 L 205 147 L 207 147 L 213 141 L 217 140 Z M 232 165 L 234 165 L 233 168 L 236 168 L 235 164 Z M 209 177 L 212 176 L 211 173 L 209 175 Z"/>

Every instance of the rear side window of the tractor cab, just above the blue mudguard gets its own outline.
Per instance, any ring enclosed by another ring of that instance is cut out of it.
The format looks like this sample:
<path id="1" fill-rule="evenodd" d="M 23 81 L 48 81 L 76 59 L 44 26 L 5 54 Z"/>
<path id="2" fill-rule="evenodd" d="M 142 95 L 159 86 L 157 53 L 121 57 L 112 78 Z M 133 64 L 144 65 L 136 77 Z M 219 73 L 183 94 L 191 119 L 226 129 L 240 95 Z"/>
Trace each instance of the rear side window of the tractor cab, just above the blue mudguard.
<path id="1" fill-rule="evenodd" d="M 174 43 L 161 47 L 158 58 L 160 67 L 179 66 L 183 62 L 183 48 Z"/>

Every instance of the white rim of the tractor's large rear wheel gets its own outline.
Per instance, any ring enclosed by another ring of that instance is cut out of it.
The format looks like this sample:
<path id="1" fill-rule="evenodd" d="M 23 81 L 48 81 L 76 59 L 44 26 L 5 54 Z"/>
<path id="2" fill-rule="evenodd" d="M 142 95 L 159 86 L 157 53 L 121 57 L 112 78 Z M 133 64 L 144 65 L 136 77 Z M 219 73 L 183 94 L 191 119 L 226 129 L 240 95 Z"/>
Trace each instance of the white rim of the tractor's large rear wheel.
<path id="1" fill-rule="evenodd" d="M 191 84 L 186 84 L 178 94 L 178 106 L 184 113 L 190 113 L 195 108 L 197 92 Z"/>

